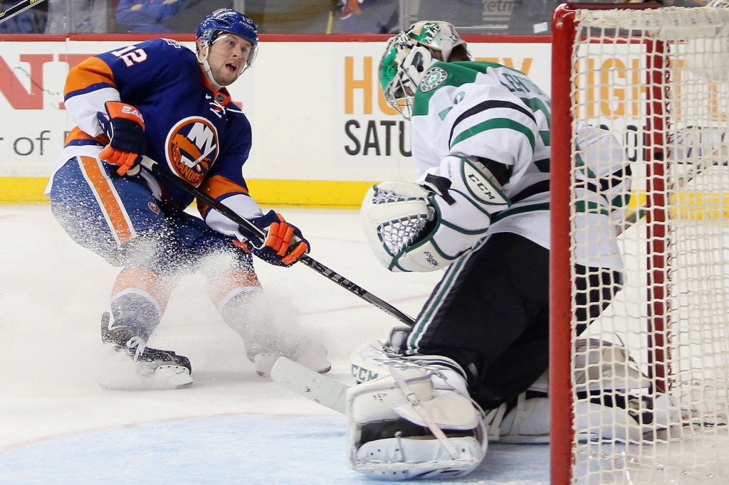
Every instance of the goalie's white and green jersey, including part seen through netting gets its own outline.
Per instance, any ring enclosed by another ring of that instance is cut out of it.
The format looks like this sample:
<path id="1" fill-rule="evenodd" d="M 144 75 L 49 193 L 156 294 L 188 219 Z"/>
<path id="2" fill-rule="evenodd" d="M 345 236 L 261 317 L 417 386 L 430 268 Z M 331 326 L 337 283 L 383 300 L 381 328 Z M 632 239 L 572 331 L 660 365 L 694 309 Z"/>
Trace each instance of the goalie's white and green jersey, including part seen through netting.
<path id="1" fill-rule="evenodd" d="M 550 248 L 550 98 L 529 78 L 496 63 L 435 63 L 413 106 L 418 177 L 448 155 L 473 157 L 502 185 L 510 205 L 494 214 L 488 234 L 512 232 Z M 593 232 L 615 234 L 630 200 L 630 166 L 607 130 L 577 127 L 575 262 L 623 269 L 615 237 L 587 245 Z M 440 173 L 448 177 L 447 173 Z M 585 202 L 587 201 L 587 202 Z"/>

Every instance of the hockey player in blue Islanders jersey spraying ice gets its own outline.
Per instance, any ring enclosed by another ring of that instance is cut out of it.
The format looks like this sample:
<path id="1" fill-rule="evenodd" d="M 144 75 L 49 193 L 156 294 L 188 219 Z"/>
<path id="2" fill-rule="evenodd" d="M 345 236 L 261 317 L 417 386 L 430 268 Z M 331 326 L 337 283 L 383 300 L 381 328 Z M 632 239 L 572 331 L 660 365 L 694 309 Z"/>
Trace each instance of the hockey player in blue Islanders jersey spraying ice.
<path id="1" fill-rule="evenodd" d="M 147 347 L 186 272 L 206 275 L 208 296 L 259 374 L 280 355 L 330 367 L 321 345 L 246 318 L 261 286 L 252 254 L 288 267 L 309 247 L 296 226 L 262 212 L 243 178 L 251 126 L 225 87 L 254 62 L 256 31 L 249 17 L 219 9 L 200 23 L 197 52 L 170 39 L 140 42 L 85 60 L 66 80 L 77 127 L 47 188 L 52 212 L 76 242 L 123 268 L 102 340 L 133 358 L 152 387 L 192 383 L 187 358 Z M 192 196 L 141 167 L 142 155 L 264 229 L 265 241 L 199 202 L 201 218 L 184 213 Z"/>

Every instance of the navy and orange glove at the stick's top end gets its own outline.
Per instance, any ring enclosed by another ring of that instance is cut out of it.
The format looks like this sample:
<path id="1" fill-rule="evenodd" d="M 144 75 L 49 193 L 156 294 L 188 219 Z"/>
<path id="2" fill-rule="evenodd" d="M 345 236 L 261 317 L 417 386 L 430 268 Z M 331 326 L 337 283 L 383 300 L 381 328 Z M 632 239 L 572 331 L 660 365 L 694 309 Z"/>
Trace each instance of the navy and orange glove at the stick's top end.
<path id="1" fill-rule="evenodd" d="M 147 151 L 147 138 L 144 136 L 144 119 L 139 109 L 119 101 L 106 101 L 106 113 L 98 112 L 96 117 L 101 123 L 109 145 L 98 155 L 105 162 L 119 165 L 117 173 L 136 175 L 139 163 Z"/>

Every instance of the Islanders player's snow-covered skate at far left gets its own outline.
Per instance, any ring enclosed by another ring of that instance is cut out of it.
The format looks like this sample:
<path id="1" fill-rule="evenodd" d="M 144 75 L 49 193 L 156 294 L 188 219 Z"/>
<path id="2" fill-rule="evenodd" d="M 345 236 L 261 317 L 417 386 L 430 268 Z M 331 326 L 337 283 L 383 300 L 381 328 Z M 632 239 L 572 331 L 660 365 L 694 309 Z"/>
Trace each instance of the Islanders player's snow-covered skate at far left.
<path id="1" fill-rule="evenodd" d="M 192 384 L 192 366 L 184 355 L 147 347 L 136 329 L 101 318 L 101 342 L 113 350 L 116 369 L 107 369 L 102 387 L 117 390 L 181 389 Z M 118 356 L 123 360 L 117 360 Z M 125 363 L 133 363 L 133 370 Z M 132 371 L 130 371 L 132 370 Z"/>

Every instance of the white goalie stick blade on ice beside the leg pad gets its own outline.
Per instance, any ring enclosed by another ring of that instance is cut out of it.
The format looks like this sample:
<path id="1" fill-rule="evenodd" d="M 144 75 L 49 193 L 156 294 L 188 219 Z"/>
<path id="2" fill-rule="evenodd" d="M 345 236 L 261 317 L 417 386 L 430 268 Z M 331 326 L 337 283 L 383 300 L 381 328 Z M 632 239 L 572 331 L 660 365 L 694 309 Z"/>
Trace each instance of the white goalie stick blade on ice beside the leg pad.
<path id="1" fill-rule="evenodd" d="M 300 363 L 280 357 L 273 364 L 271 379 L 309 401 L 344 414 L 348 385 L 323 376 Z"/>

